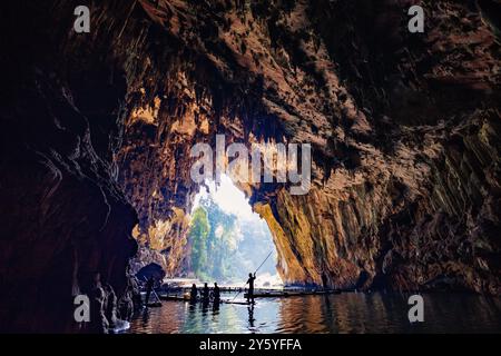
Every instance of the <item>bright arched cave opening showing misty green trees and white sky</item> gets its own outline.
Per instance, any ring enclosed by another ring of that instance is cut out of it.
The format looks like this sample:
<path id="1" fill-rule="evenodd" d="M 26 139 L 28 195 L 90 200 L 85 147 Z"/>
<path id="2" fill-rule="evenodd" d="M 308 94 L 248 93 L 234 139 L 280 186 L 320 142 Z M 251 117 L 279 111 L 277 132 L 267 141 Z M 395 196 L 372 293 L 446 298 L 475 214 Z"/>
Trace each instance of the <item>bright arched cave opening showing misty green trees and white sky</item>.
<path id="1" fill-rule="evenodd" d="M 195 196 L 187 255 L 186 274 L 200 281 L 237 286 L 258 270 L 256 286 L 283 286 L 269 227 L 227 175 L 206 180 Z"/>

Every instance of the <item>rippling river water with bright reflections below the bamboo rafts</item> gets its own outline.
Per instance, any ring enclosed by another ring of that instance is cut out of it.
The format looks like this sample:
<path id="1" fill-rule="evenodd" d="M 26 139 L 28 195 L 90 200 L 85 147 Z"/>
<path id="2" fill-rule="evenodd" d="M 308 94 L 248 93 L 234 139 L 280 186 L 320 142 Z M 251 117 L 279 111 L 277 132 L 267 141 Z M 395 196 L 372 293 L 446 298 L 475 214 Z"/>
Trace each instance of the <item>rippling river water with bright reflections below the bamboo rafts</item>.
<path id="1" fill-rule="evenodd" d="M 501 333 L 501 299 L 425 294 L 424 323 L 407 319 L 407 296 L 345 293 L 257 299 L 255 306 L 164 301 L 129 333 Z M 227 297 L 230 298 L 230 297 Z"/>

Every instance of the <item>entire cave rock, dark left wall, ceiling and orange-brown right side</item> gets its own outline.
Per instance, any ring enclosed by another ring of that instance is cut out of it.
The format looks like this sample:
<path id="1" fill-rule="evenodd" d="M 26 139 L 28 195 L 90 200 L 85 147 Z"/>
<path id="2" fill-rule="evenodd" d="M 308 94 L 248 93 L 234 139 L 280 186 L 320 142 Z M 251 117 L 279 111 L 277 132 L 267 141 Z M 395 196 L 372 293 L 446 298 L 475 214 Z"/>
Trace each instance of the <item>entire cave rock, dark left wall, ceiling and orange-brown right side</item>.
<path id="1" fill-rule="evenodd" d="M 78 330 L 97 271 L 128 305 L 132 236 L 176 274 L 216 134 L 312 144 L 307 195 L 240 185 L 286 281 L 499 295 L 499 2 L 414 3 L 2 4 L 0 329 Z"/>

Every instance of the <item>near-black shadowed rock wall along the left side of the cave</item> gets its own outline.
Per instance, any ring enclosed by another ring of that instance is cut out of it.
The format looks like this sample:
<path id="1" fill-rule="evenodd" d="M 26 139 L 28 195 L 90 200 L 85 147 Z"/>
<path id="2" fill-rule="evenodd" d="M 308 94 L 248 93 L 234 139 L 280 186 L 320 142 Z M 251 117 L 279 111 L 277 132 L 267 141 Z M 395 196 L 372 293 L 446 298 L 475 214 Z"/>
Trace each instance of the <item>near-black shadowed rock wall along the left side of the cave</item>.
<path id="1" fill-rule="evenodd" d="M 68 27 L 50 7 L 6 3 L 1 13 L 0 330 L 107 332 L 130 317 L 137 250 L 137 215 L 110 159 L 125 80 L 63 56 Z M 90 324 L 73 318 L 80 294 L 91 297 Z"/>

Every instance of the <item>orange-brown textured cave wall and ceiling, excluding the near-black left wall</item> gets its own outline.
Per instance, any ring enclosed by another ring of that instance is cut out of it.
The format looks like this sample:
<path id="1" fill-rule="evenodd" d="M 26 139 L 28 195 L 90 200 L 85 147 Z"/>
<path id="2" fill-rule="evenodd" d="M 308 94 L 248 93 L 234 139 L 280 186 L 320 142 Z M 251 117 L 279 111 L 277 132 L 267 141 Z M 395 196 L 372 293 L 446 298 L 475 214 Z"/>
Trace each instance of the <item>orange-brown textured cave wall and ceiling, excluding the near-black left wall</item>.
<path id="1" fill-rule="evenodd" d="M 126 194 L 170 269 L 184 245 L 161 228 L 173 205 L 189 211 L 197 189 L 186 145 L 227 134 L 313 145 L 305 197 L 242 186 L 274 233 L 287 283 L 497 293 L 495 31 L 474 1 L 423 1 L 426 31 L 411 34 L 414 3 L 141 2 L 164 36 L 189 47 L 183 56 L 195 56 L 171 67 L 164 98 L 129 118 L 122 150 L 125 185 L 157 166 L 146 178 L 154 185 Z M 145 135 L 147 150 L 137 144 Z"/>

